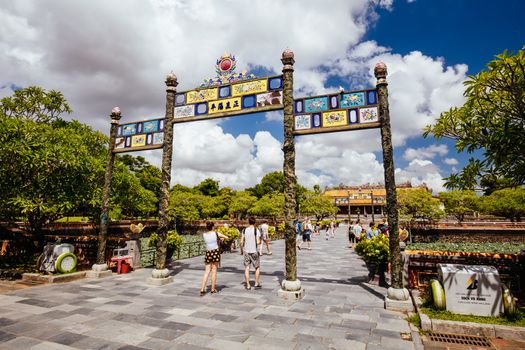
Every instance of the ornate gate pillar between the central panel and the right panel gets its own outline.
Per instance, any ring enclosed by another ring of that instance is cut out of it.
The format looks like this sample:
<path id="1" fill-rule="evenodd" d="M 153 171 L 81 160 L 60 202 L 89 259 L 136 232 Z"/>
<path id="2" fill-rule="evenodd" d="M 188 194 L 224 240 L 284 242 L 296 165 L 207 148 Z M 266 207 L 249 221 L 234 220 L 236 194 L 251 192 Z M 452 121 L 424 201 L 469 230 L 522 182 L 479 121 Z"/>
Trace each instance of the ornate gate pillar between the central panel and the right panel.
<path id="1" fill-rule="evenodd" d="M 283 105 L 284 105 L 284 239 L 285 239 L 285 278 L 279 295 L 286 299 L 300 299 L 304 295 L 301 282 L 297 279 L 297 251 L 294 220 L 297 218 L 295 203 L 295 144 L 293 116 L 293 64 L 294 53 L 283 52 Z"/>

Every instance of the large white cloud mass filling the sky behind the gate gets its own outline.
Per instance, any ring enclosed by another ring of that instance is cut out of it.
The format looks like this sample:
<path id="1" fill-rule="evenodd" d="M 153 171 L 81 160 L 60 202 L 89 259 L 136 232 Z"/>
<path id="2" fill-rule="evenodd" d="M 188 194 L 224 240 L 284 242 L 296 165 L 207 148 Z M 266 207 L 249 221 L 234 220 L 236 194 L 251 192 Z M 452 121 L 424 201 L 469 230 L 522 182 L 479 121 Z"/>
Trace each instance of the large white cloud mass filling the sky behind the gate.
<path id="1" fill-rule="evenodd" d="M 377 6 L 390 9 L 392 1 L 5 2 L 0 86 L 60 90 L 73 118 L 107 133 L 112 107 L 122 108 L 123 123 L 163 116 L 165 74 L 173 70 L 178 89 L 191 89 L 215 75 L 213 63 L 225 50 L 236 55 L 238 70 L 262 66 L 277 74 L 283 49 L 293 49 L 296 96 L 337 91 L 328 86 L 331 76 L 347 89 L 374 86 L 373 67 L 381 59 L 389 69 L 394 146 L 402 146 L 440 112 L 462 103 L 467 67 L 360 42 L 377 20 Z M 267 113 L 266 120 L 281 121 L 282 114 Z M 297 174 L 306 185 L 382 181 L 377 129 L 304 136 L 296 148 Z M 160 163 L 160 151 L 140 154 Z M 214 177 L 242 188 L 281 167 L 280 142 L 268 132 L 234 136 L 218 120 L 175 125 L 173 183 Z"/>

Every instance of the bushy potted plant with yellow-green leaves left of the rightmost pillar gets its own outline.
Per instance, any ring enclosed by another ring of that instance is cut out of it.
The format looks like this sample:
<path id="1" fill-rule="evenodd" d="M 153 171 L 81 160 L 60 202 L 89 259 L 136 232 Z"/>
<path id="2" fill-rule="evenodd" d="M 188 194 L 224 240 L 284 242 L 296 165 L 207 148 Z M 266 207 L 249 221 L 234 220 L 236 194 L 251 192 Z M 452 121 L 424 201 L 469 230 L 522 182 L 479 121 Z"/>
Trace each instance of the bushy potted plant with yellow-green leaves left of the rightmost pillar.
<path id="1" fill-rule="evenodd" d="M 355 246 L 355 252 L 365 261 L 369 272 L 368 281 L 379 274 L 379 284 L 386 285 L 385 272 L 390 258 L 388 236 L 380 234 L 366 239 L 366 235 L 362 234 L 359 243 Z"/>

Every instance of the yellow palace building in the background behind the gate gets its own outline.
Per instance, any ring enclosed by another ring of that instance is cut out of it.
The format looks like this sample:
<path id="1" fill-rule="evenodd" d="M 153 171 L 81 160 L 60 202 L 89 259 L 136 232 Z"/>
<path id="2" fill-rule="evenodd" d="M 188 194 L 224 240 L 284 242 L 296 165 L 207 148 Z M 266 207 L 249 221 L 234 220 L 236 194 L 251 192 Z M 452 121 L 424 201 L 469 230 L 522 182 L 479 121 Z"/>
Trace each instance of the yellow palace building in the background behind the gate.
<path id="1" fill-rule="evenodd" d="M 426 188 L 426 186 L 424 186 Z M 397 185 L 397 188 L 413 188 L 407 182 Z M 363 186 L 343 186 L 327 188 L 325 196 L 333 199 L 339 207 L 338 215 L 351 215 L 368 217 L 369 215 L 386 215 L 386 189 L 384 185 L 366 184 Z"/>

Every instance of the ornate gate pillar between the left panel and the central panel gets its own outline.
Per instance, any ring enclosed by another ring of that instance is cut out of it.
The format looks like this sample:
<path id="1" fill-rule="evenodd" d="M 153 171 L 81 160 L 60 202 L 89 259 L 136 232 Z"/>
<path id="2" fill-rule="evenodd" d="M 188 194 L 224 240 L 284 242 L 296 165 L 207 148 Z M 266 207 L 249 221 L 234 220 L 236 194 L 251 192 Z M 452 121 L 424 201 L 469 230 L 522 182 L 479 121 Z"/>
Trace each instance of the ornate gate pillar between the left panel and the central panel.
<path id="1" fill-rule="evenodd" d="M 170 73 L 166 76 L 166 115 L 164 118 L 164 146 L 162 148 L 162 183 L 159 200 L 159 227 L 157 234 L 157 251 L 155 256 L 155 269 L 151 272 L 148 283 L 163 285 L 173 281 L 166 268 L 166 235 L 168 233 L 169 198 L 171 182 L 171 157 L 173 153 L 173 108 L 175 105 L 175 93 L 177 92 L 177 77 Z"/>

